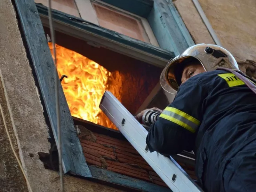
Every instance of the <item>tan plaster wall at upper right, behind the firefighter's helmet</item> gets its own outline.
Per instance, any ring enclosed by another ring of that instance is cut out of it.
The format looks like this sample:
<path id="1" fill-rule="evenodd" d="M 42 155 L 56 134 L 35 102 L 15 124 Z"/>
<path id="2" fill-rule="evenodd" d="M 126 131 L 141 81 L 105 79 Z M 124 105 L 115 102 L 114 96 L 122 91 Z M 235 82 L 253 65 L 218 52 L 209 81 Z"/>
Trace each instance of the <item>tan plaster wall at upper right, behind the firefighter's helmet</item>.
<path id="1" fill-rule="evenodd" d="M 240 64 L 241 70 L 256 78 L 256 1 L 199 0 L 224 48 Z M 192 0 L 175 0 L 195 43 L 214 43 Z"/>

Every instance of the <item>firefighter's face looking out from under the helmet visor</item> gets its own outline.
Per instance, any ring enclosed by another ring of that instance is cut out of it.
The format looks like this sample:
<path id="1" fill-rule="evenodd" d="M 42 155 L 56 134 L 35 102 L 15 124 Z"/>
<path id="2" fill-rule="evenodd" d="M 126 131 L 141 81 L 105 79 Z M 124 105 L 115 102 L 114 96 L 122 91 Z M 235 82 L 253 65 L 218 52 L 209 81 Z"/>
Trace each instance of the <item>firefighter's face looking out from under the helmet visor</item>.
<path id="1" fill-rule="evenodd" d="M 184 83 L 189 78 L 191 78 L 197 74 L 203 73 L 203 72 L 206 72 L 206 71 L 200 63 L 187 64 L 184 67 L 183 72 L 182 72 L 181 83 Z"/>

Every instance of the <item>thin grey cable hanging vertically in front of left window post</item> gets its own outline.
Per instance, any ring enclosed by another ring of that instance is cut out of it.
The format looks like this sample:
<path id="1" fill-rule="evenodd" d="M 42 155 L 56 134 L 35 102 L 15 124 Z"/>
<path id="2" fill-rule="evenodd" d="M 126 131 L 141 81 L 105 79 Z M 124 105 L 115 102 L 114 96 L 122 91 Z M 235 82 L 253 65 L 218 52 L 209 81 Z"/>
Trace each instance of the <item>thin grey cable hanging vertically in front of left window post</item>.
<path id="1" fill-rule="evenodd" d="M 51 0 L 48 0 L 48 16 L 49 16 L 49 26 L 51 32 L 51 42 L 53 44 L 53 61 L 56 66 L 56 76 L 55 76 L 55 103 L 56 103 L 56 119 L 57 119 L 57 130 L 58 130 L 58 156 L 59 156 L 59 178 L 61 182 L 61 191 L 64 191 L 63 187 L 63 175 L 62 175 L 62 149 L 61 149 L 61 121 L 59 115 L 59 77 L 57 71 L 57 59 L 56 59 L 56 48 L 55 48 L 55 32 L 53 28 L 53 16 L 51 14 Z"/>

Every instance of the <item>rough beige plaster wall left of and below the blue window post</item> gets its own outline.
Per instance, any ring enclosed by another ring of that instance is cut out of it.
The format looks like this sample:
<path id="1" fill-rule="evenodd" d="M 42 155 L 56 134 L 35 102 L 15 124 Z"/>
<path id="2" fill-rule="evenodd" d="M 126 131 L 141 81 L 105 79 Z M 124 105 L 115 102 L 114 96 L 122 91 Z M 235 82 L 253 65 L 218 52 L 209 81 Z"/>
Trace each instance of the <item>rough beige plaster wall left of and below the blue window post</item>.
<path id="1" fill-rule="evenodd" d="M 11 0 L 0 1 L 0 26 L 0 102 L 15 151 L 33 191 L 60 191 L 58 173 L 45 169 L 39 159 L 39 152 L 49 153 L 48 127 Z M 2 116 L 0 143 L 0 191 L 28 191 L 11 151 Z M 64 188 L 69 192 L 121 192 L 69 175 L 64 176 Z"/>

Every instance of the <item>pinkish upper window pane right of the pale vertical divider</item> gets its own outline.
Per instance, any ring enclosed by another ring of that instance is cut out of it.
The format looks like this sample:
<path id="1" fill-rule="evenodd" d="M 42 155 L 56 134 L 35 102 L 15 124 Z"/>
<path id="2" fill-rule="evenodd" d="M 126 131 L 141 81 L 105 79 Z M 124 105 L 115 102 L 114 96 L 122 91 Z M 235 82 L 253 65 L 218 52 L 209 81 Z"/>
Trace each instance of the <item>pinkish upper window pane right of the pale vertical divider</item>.
<path id="1" fill-rule="evenodd" d="M 99 25 L 144 42 L 150 42 L 139 18 L 92 3 Z"/>

